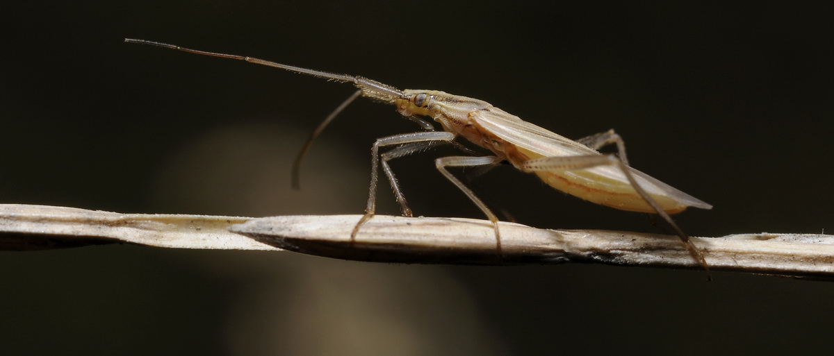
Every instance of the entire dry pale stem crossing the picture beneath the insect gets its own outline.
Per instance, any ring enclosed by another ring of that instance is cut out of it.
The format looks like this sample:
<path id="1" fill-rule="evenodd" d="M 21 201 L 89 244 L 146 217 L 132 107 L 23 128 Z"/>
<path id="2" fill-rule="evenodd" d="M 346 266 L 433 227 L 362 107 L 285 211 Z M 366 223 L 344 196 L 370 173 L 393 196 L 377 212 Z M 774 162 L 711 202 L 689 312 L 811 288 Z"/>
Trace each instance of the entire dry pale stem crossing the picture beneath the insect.
<path id="1" fill-rule="evenodd" d="M 377 215 L 241 218 L 139 215 L 38 205 L 0 205 L 0 249 L 38 250 L 128 242 L 171 248 L 294 250 L 345 260 L 450 265 L 592 262 L 700 269 L 676 236 L 606 230 L 543 230 L 490 221 Z M 231 232 L 227 231 L 231 230 Z M 240 234 L 240 235 L 239 235 Z M 249 236 L 249 237 L 245 237 Z M 693 237 L 712 270 L 834 279 L 834 235 Z"/>

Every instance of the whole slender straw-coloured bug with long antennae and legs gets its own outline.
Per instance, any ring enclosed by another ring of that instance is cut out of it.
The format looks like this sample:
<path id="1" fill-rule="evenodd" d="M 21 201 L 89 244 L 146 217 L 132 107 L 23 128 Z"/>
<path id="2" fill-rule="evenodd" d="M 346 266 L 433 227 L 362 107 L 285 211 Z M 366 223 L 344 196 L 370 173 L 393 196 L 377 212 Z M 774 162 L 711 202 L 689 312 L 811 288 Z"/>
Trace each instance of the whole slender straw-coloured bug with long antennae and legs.
<path id="1" fill-rule="evenodd" d="M 631 168 L 625 156 L 625 143 L 613 130 L 573 141 L 547 131 L 540 126 L 522 121 L 518 116 L 513 116 L 486 101 L 466 96 L 456 96 L 434 90 L 407 89 L 401 91 L 365 77 L 321 72 L 253 57 L 198 51 L 161 42 L 130 38 L 126 38 L 125 42 L 237 59 L 332 81 L 352 82 L 355 87 L 358 87 L 359 90 L 337 107 L 310 136 L 294 164 L 294 185 L 298 185 L 298 168 L 301 157 L 309 149 L 314 138 L 344 107 L 348 106 L 358 96 L 368 96 L 375 101 L 392 104 L 396 106 L 400 115 L 419 124 L 424 131 L 383 137 L 374 142 L 371 149 L 371 181 L 368 204 L 364 215 L 351 232 L 351 241 L 355 240 L 359 228 L 374 216 L 380 165 L 394 189 L 395 198 L 399 202 L 403 215 L 412 216 L 388 161 L 408 156 L 441 143 L 451 143 L 459 146 L 462 150 L 474 153 L 462 146 L 460 142 L 455 141 L 458 136 L 462 136 L 467 141 L 491 151 L 493 155 L 440 157 L 435 160 L 435 166 L 443 176 L 463 191 L 490 219 L 495 228 L 495 244 L 499 255 L 501 255 L 501 245 L 498 217 L 475 195 L 475 192 L 453 176 L 447 170 L 447 167 L 489 167 L 508 161 L 520 171 L 534 173 L 545 184 L 581 199 L 619 210 L 660 215 L 666 223 L 671 225 L 676 235 L 681 238 L 696 262 L 706 269 L 709 279 L 709 267 L 701 250 L 696 248 L 689 236 L 681 230 L 674 220 L 671 220 L 670 214 L 679 213 L 686 210 L 687 207 L 711 209 L 712 206 Z M 424 117 L 430 117 L 440 123 L 443 131 L 435 131 L 435 127 Z M 597 151 L 603 146 L 612 144 L 617 148 L 617 155 L 602 154 Z M 394 148 L 379 153 L 380 148 L 390 146 L 394 146 Z"/>

